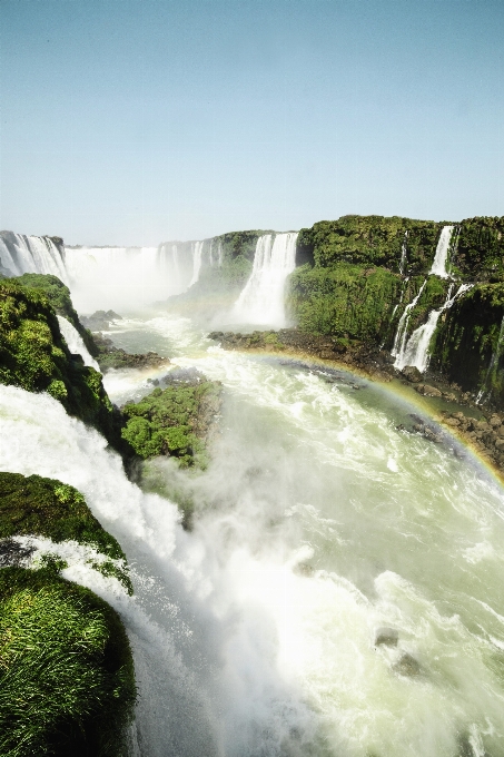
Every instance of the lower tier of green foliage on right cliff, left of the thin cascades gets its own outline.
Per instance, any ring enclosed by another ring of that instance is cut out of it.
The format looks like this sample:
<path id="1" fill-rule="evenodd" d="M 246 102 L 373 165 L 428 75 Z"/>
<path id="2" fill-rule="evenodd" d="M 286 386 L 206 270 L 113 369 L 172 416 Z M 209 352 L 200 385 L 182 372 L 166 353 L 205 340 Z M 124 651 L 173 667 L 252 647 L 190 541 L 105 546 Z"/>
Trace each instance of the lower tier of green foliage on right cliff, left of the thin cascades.
<path id="1" fill-rule="evenodd" d="M 303 331 L 381 341 L 401 288 L 401 276 L 384 268 L 305 265 L 290 276 L 287 305 Z"/>

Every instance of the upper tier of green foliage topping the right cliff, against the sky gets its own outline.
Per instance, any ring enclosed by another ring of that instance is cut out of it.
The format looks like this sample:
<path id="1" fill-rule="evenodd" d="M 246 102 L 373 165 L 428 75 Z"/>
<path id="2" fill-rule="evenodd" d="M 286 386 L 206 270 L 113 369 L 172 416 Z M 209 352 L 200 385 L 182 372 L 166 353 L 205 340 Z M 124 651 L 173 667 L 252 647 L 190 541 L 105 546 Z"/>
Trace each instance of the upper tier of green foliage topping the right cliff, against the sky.
<path id="1" fill-rule="evenodd" d="M 398 272 L 403 244 L 407 271 L 426 273 L 434 259 L 443 224 L 393 216 L 343 216 L 303 228 L 298 263 L 329 267 L 339 263 L 378 265 Z M 407 236 L 406 235 L 407 232 Z"/>

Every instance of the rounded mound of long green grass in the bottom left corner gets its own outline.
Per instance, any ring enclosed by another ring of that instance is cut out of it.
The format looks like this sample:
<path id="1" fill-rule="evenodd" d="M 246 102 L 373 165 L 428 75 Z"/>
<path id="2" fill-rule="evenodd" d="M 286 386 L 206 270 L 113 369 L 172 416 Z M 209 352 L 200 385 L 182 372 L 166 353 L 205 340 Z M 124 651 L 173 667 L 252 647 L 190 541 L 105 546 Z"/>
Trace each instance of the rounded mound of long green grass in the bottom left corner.
<path id="1" fill-rule="evenodd" d="M 0 754 L 121 757 L 136 699 L 117 613 L 40 570 L 0 570 Z"/>

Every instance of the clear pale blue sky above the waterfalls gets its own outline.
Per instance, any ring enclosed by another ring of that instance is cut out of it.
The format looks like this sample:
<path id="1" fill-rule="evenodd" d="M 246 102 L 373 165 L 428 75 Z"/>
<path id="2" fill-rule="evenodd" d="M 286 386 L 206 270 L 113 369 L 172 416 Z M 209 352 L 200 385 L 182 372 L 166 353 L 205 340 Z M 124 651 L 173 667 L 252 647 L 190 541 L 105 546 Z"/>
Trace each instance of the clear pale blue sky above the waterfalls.
<path id="1" fill-rule="evenodd" d="M 0 227 L 504 214 L 504 0 L 0 0 Z"/>

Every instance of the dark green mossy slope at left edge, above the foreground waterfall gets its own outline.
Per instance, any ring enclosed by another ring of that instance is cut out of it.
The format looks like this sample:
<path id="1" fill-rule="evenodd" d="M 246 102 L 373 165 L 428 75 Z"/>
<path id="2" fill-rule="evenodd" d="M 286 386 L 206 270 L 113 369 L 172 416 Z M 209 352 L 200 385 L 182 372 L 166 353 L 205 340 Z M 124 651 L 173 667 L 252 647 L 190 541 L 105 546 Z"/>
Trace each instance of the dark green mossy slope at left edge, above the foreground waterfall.
<path id="1" fill-rule="evenodd" d="M 120 449 L 120 417 L 101 375 L 72 358 L 47 295 L 17 279 L 0 282 L 0 383 L 48 392 Z"/>

